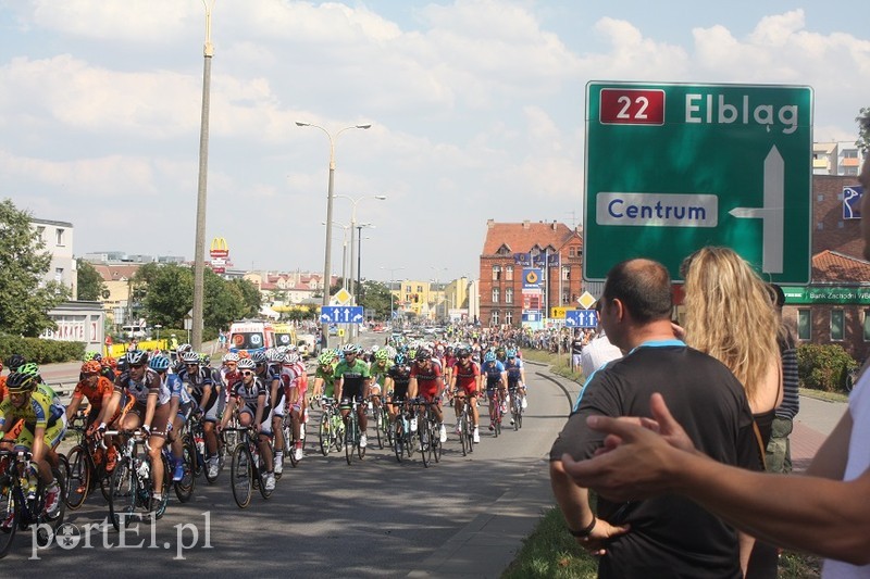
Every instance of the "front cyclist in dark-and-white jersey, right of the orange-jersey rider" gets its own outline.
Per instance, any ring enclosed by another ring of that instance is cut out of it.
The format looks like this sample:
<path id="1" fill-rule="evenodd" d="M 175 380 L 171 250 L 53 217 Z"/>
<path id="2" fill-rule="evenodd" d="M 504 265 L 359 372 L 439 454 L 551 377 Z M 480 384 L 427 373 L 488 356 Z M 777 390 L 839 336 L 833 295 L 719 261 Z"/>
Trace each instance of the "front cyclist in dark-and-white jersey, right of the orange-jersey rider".
<path id="1" fill-rule="evenodd" d="M 148 456 L 151 460 L 151 480 L 154 487 L 152 506 L 154 506 L 163 501 L 163 460 L 160 455 L 170 427 L 172 393 L 160 376 L 146 367 L 148 364 L 146 352 L 130 350 L 124 356 L 124 361 L 126 369 L 115 380 L 115 389 L 105 415 L 115 416 L 124 394 L 135 401 L 129 412 L 117 418 L 113 427 L 136 430 L 141 426 L 148 435 Z M 107 423 L 100 423 L 99 430 L 104 431 L 105 428 Z M 107 445 L 111 445 L 113 442 L 111 437 L 107 438 L 110 438 L 107 440 Z"/>

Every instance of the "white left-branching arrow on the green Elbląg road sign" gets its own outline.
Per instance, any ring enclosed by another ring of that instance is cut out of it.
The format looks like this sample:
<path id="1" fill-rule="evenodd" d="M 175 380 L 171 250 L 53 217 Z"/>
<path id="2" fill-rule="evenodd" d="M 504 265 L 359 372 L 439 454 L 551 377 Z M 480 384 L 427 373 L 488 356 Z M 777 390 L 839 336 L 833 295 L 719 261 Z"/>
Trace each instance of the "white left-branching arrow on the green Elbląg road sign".
<path id="1" fill-rule="evenodd" d="M 729 211 L 738 219 L 761 219 L 761 272 L 766 274 L 781 274 L 783 270 L 784 200 L 785 162 L 774 144 L 765 158 L 765 206 Z"/>

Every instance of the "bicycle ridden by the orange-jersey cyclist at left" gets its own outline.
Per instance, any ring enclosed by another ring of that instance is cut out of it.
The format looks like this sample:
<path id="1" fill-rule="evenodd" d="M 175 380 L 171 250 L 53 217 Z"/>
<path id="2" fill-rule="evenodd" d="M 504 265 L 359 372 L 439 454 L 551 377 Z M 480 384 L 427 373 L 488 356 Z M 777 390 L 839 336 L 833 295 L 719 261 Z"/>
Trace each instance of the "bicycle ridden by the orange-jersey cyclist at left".
<path id="1" fill-rule="evenodd" d="M 110 478 L 112 473 L 107 470 L 107 446 L 95 436 L 87 436 L 84 426 L 73 426 L 71 431 L 76 432 L 78 441 L 66 453 L 70 469 L 66 473 L 66 508 L 75 511 L 85 503 L 85 499 L 100 486 L 103 498 L 109 500 Z"/>

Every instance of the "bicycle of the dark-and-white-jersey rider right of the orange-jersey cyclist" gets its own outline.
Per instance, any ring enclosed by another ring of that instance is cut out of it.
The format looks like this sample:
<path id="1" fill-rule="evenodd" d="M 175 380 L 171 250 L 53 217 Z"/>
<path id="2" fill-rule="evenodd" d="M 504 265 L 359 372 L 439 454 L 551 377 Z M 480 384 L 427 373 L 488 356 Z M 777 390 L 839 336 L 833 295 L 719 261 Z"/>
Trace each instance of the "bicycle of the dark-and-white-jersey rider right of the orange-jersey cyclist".
<path id="1" fill-rule="evenodd" d="M 109 484 L 109 519 L 112 526 L 121 530 L 122 519 L 136 513 L 136 508 L 141 508 L 146 515 L 153 513 L 154 519 L 162 518 L 170 500 L 167 491 L 172 486 L 172 469 L 166 461 L 166 454 L 160 455 L 160 460 L 163 461 L 163 496 L 159 503 L 154 503 L 151 458 L 148 454 L 139 456 L 137 453 L 140 445 L 146 452 L 150 450 L 148 445 L 150 435 L 140 428 L 108 430 L 105 435 L 126 438 L 119 451 L 117 463 Z"/>

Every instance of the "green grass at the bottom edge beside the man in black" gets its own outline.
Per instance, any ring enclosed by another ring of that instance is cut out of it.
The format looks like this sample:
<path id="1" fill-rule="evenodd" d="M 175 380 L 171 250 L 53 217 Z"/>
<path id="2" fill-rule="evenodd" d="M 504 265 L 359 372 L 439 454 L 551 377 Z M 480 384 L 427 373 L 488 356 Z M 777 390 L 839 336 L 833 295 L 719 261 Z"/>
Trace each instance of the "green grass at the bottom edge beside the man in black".
<path id="1" fill-rule="evenodd" d="M 791 552 L 780 557 L 779 579 L 808 579 L 819 577 L 820 571 L 819 557 Z M 523 541 L 501 579 L 594 579 L 597 576 L 598 561 L 568 534 L 562 514 L 552 507 L 544 513 L 535 530 Z"/>

